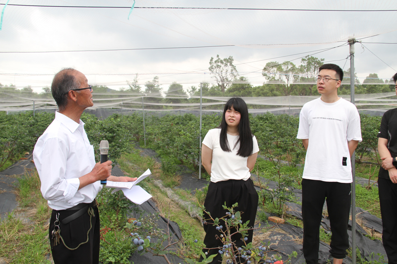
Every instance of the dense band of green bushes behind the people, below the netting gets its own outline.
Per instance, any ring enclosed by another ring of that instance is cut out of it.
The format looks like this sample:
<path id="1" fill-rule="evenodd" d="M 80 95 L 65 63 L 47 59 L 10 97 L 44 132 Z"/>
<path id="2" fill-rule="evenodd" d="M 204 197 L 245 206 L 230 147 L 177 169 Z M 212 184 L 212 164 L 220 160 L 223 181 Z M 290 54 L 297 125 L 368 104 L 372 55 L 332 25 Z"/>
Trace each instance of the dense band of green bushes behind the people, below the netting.
<path id="1" fill-rule="evenodd" d="M 361 114 L 363 141 L 356 151 L 357 162 L 364 159 L 380 162 L 377 153 L 377 133 L 381 117 Z M 39 136 L 54 119 L 54 113 L 32 111 L 17 114 L 0 112 L 0 168 L 15 161 L 24 152 L 32 151 Z M 94 146 L 99 160 L 99 143 L 108 140 L 111 151 L 109 158 L 116 160 L 122 153 L 129 153 L 134 142 L 156 151 L 161 157 L 175 164 L 183 164 L 194 170 L 199 168 L 199 117 L 193 114 L 145 117 L 146 134 L 143 132 L 141 112 L 130 115 L 113 114 L 100 120 L 96 116 L 83 113 L 85 131 Z M 220 124 L 219 114 L 202 116 L 201 139 L 209 129 Z M 252 133 L 256 136 L 261 150 L 260 155 L 270 161 L 286 160 L 295 167 L 303 164 L 305 150 L 296 139 L 299 117 L 272 113 L 250 115 Z M 8 163 L 7 163 L 8 162 Z"/>

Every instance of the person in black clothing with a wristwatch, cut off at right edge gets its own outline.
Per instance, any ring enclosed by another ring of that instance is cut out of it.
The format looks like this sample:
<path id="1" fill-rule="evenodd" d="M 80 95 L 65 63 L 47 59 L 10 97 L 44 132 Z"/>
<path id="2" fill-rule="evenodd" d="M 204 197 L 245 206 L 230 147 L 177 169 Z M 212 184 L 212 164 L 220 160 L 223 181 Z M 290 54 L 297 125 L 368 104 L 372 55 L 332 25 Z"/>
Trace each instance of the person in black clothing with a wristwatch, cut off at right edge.
<path id="1" fill-rule="evenodd" d="M 397 94 L 397 73 L 393 80 Z M 378 133 L 378 152 L 383 160 L 378 175 L 383 247 L 389 263 L 397 264 L 397 108 L 383 114 Z"/>

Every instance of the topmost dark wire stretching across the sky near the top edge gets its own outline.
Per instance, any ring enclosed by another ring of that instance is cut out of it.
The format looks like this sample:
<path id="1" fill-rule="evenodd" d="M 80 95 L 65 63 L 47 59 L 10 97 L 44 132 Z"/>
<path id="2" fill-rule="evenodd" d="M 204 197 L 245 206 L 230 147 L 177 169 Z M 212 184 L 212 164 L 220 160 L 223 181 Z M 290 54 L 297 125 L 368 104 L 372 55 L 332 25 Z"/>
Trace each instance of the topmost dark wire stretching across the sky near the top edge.
<path id="1" fill-rule="evenodd" d="M 8 4 L 13 6 L 32 6 L 32 7 L 69 7 L 69 8 L 128 8 L 131 6 L 80 6 L 80 5 L 39 5 L 39 4 Z M 207 9 L 207 10 L 255 10 L 255 11 L 326 11 L 326 12 L 395 12 L 397 9 L 379 10 L 354 10 L 354 9 L 294 9 L 294 8 L 237 8 L 237 7 L 167 7 L 167 6 L 135 6 L 142 9 Z"/>

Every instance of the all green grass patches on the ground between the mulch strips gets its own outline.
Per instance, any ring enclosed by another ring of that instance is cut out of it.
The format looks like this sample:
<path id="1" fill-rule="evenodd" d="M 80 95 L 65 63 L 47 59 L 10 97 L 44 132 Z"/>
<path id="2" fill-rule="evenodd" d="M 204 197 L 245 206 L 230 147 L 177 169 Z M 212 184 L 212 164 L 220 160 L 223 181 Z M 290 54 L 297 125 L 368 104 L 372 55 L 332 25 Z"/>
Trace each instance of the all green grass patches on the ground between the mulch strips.
<path id="1" fill-rule="evenodd" d="M 145 179 L 139 185 L 146 191 L 153 195 L 157 203 L 160 213 L 172 221 L 178 223 L 182 234 L 183 243 L 180 243 L 177 254 L 182 258 L 197 259 L 201 251 L 201 244 L 194 243 L 195 239 L 200 242 L 203 240 L 204 232 L 199 220 L 193 219 L 175 202 L 170 200 L 167 195 L 153 184 L 153 179 L 158 178 L 163 182 L 167 182 L 168 187 L 173 187 L 178 184 L 178 179 L 172 173 L 165 173 L 161 169 L 161 164 L 156 162 L 154 158 L 142 157 L 138 150 L 132 150 L 132 153 L 124 154 L 119 158 L 118 163 L 124 171 L 130 176 L 137 177 L 147 168 L 153 173 L 153 176 Z M 175 164 L 172 164 L 175 165 Z M 258 159 L 256 168 L 264 172 L 264 174 L 271 175 L 273 163 L 263 159 Z M 370 165 L 362 163 L 357 165 L 356 173 L 358 175 L 369 175 Z M 301 168 L 292 168 L 288 166 L 282 167 L 283 173 L 301 173 Z M 371 174 L 374 173 L 374 168 L 371 166 Z M 375 171 L 375 175 L 377 170 Z M 360 176 L 361 177 L 361 176 Z M 362 176 L 364 177 L 364 176 Z M 184 201 L 199 200 L 203 202 L 205 198 L 206 189 L 198 190 L 196 197 L 192 196 L 190 192 L 178 189 L 176 194 Z M 40 193 L 40 180 L 37 172 L 31 171 L 26 173 L 18 179 L 17 200 L 20 208 L 0 223 L 0 257 L 4 258 L 10 263 L 50 263 L 47 257 L 50 254 L 49 240 L 48 240 L 48 224 L 47 220 L 50 217 L 50 209 L 47 206 L 47 201 L 42 198 Z M 380 217 L 378 189 L 372 187 L 370 190 L 357 185 L 356 186 L 356 206 Z M 259 216 L 261 211 L 258 211 Z M 29 217 L 32 222 L 25 223 L 19 216 Z M 265 215 L 265 214 L 264 214 Z M 105 214 L 101 212 L 101 221 Z M 112 218 L 113 217 L 113 218 Z M 123 217 L 111 216 L 113 221 L 124 221 Z M 284 219 L 287 222 L 302 227 L 302 221 L 284 214 Z M 109 220 L 104 219 L 102 223 L 107 223 Z M 107 240 L 112 243 L 114 253 L 120 256 L 119 261 L 123 263 L 128 257 L 127 253 L 130 240 L 125 241 L 126 234 L 123 231 L 125 222 L 114 224 L 118 226 L 116 232 L 108 233 Z M 329 243 L 330 235 L 320 230 L 320 238 L 322 241 Z M 124 242 L 123 242 L 124 241 Z M 120 251 L 122 250 L 122 251 Z M 124 252 L 123 256 L 120 252 Z M 123 258 L 122 258 L 123 257 Z M 117 261 L 117 260 L 116 260 Z"/>

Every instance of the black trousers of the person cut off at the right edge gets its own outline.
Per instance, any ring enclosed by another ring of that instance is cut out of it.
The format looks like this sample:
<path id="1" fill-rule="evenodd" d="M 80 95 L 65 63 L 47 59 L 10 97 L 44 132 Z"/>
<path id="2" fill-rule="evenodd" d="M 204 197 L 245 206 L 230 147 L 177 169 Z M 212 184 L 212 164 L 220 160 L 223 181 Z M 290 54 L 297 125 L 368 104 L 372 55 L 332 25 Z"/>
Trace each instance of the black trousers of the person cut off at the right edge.
<path id="1" fill-rule="evenodd" d="M 378 178 L 382 214 L 382 241 L 389 263 L 397 263 L 397 184 Z"/>

